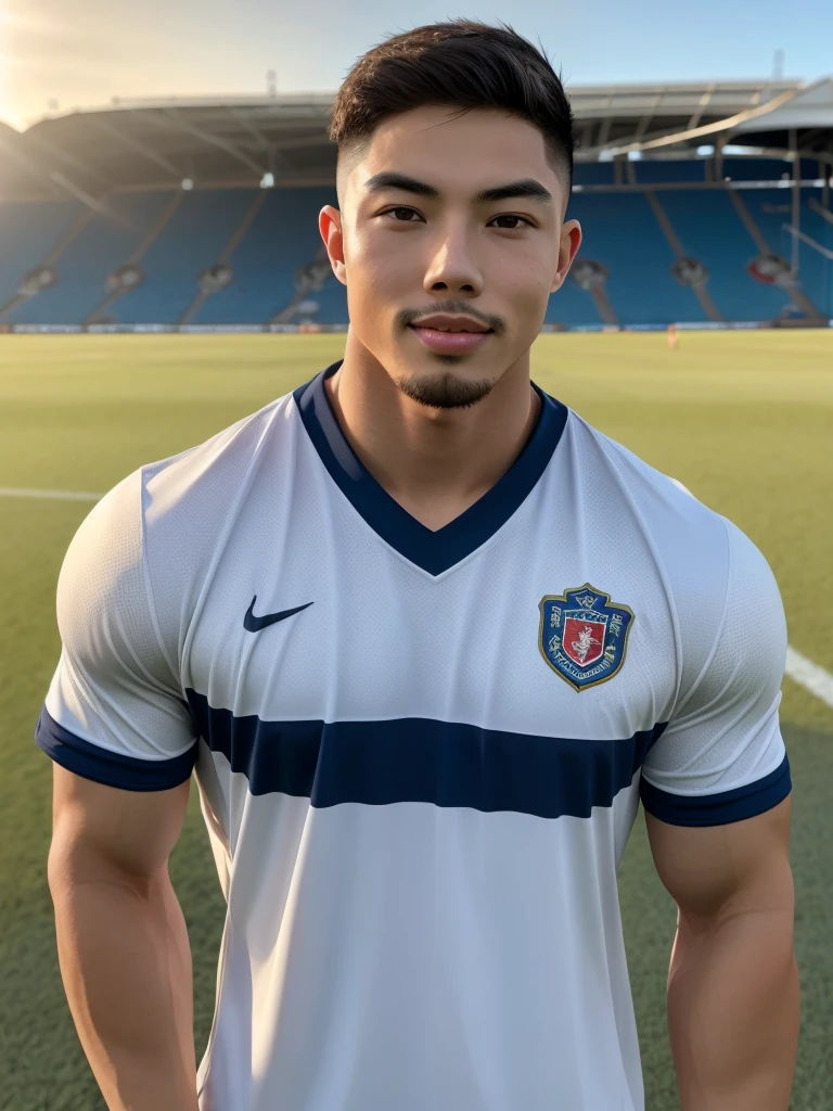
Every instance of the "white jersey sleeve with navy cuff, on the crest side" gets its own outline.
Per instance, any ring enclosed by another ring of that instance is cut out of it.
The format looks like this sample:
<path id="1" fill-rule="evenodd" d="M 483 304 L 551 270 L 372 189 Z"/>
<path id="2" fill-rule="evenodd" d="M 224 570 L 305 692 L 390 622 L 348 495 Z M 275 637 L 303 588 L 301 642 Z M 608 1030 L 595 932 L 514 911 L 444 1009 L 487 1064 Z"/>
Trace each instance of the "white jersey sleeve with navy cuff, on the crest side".
<path id="1" fill-rule="evenodd" d="M 784 609 L 761 552 L 735 526 L 725 524 L 726 595 L 716 634 L 709 641 L 711 652 L 642 768 L 645 810 L 673 825 L 722 825 L 753 818 L 791 790 L 779 725 Z M 694 618 L 695 611 L 696 605 Z M 688 642 L 702 640 L 701 632 Z M 685 652 L 684 627 L 681 639 Z"/>

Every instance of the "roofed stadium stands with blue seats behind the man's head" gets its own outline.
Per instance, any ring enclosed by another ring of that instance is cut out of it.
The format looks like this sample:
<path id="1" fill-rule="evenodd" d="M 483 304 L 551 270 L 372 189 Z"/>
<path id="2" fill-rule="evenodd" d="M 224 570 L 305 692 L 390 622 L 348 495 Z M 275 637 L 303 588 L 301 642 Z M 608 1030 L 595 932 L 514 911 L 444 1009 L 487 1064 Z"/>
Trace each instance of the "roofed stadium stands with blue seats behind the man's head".
<path id="1" fill-rule="evenodd" d="M 833 80 L 576 88 L 586 228 L 545 330 L 826 324 Z M 332 97 L 119 103 L 0 133 L 0 324 L 347 326 Z M 639 259 L 639 280 L 633 280 Z"/>

